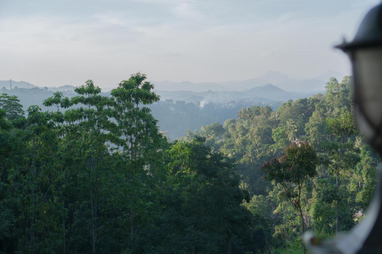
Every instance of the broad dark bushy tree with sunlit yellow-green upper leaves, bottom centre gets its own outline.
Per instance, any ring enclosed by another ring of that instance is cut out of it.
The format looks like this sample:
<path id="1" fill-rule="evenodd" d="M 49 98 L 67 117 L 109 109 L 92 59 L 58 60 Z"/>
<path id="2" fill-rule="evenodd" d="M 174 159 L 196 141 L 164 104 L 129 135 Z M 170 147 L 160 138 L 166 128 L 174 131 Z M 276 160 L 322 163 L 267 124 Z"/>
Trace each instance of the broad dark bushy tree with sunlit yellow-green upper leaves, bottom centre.
<path id="1" fill-rule="evenodd" d="M 250 224 L 249 212 L 240 206 L 243 199 L 249 202 L 249 193 L 240 189 L 233 161 L 211 153 L 204 141 L 177 142 L 167 151 L 168 253 L 229 254 Z"/>

